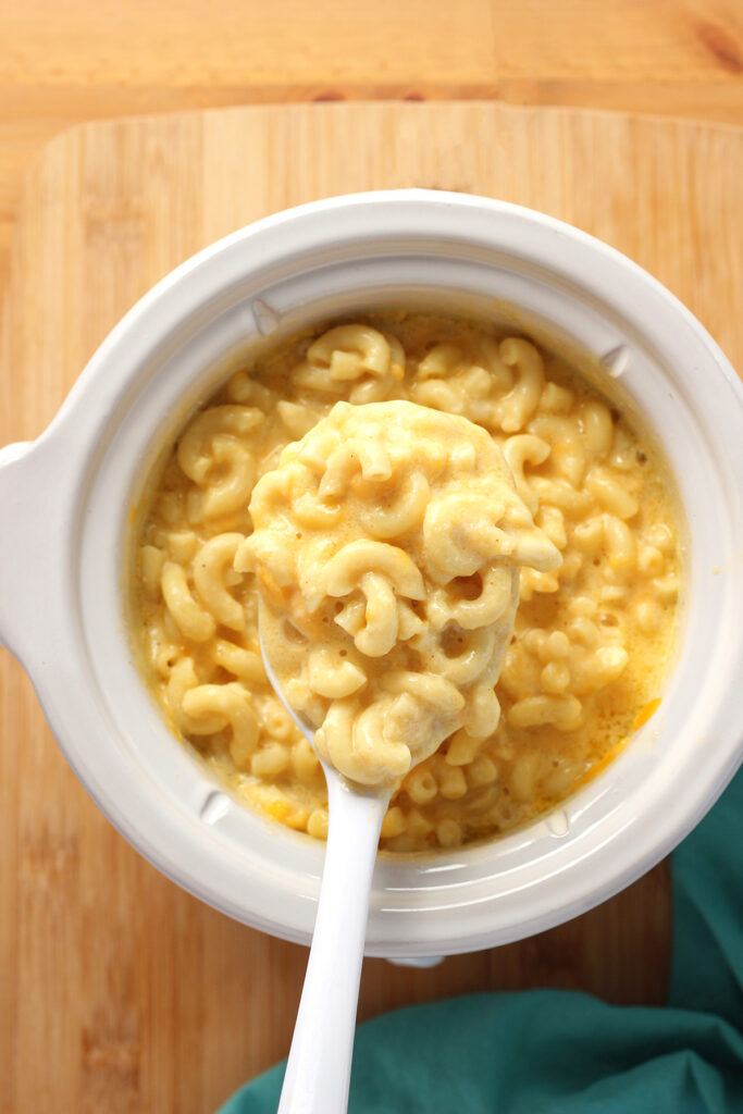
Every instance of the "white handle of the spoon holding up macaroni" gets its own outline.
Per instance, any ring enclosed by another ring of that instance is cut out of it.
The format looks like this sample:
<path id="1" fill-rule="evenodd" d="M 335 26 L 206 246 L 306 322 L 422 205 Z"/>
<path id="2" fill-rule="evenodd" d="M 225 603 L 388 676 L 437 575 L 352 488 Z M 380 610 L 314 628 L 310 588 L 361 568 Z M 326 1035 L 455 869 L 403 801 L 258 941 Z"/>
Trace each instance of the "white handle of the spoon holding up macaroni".
<path id="1" fill-rule="evenodd" d="M 320 902 L 278 1114 L 344 1114 L 369 892 L 388 798 L 327 778 L 330 824 Z"/>

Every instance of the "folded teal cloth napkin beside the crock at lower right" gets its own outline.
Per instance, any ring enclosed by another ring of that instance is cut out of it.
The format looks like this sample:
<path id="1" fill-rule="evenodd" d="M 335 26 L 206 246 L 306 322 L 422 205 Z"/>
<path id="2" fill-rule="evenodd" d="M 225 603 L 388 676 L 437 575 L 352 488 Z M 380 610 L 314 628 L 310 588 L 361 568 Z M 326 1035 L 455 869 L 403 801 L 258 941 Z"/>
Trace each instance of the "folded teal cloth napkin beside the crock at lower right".
<path id="1" fill-rule="evenodd" d="M 664 1007 L 526 990 L 360 1025 L 351 1114 L 743 1114 L 743 770 L 673 857 Z M 284 1064 L 219 1114 L 273 1114 Z"/>

